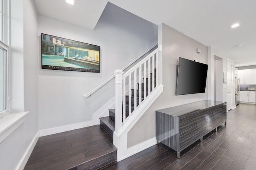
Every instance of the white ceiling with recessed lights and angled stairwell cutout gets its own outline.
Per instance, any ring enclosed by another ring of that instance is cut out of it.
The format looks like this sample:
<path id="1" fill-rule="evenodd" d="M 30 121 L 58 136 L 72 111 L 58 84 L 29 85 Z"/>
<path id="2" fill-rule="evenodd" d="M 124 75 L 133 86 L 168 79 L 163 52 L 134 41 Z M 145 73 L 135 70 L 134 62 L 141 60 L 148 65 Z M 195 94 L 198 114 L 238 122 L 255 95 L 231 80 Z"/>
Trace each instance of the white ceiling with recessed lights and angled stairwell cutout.
<path id="1" fill-rule="evenodd" d="M 156 25 L 165 23 L 235 61 L 256 65 L 256 0 L 34 0 L 39 14 L 94 29 L 107 2 Z M 240 23 L 230 29 L 230 25 Z M 237 47 L 237 45 L 242 46 Z"/>

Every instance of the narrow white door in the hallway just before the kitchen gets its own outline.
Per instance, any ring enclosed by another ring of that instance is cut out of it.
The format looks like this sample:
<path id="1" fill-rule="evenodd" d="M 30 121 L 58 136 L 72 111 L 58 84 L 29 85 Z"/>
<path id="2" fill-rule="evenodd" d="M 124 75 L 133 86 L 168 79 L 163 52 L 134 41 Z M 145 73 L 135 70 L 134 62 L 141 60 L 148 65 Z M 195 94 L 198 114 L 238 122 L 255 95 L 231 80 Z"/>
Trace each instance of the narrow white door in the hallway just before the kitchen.
<path id="1" fill-rule="evenodd" d="M 232 109 L 233 103 L 233 89 L 232 89 L 232 65 L 233 62 L 228 60 L 228 68 L 227 68 L 227 110 Z"/>

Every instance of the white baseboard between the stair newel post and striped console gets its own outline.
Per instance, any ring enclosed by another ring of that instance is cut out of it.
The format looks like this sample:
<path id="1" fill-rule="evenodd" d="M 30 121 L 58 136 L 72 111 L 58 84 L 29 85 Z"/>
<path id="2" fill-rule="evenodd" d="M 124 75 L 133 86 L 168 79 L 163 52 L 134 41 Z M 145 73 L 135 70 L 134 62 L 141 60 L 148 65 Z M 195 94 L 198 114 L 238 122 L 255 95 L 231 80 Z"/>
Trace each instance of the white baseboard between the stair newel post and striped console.
<path id="1" fill-rule="evenodd" d="M 126 155 L 123 156 L 122 158 L 119 158 L 118 161 L 124 160 L 125 158 L 128 158 L 142 150 L 145 150 L 149 147 L 152 147 L 156 145 L 156 137 L 153 137 L 151 139 L 148 139 L 147 141 L 144 141 L 142 143 L 139 143 L 137 145 L 134 145 L 130 148 L 127 149 Z"/>

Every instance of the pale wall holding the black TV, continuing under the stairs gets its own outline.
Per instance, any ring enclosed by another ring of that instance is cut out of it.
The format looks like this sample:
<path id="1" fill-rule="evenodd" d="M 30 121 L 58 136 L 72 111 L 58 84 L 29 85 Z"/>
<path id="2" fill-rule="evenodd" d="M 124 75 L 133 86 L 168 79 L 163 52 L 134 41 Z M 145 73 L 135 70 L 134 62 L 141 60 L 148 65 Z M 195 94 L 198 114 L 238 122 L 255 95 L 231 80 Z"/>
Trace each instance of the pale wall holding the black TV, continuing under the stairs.
<path id="1" fill-rule="evenodd" d="M 163 48 L 164 91 L 128 133 L 128 147 L 156 137 L 156 110 L 207 100 L 207 89 L 206 93 L 175 95 L 179 57 L 207 64 L 207 47 L 165 24 L 158 26 L 158 37 Z M 197 48 L 201 49 L 200 54 Z"/>

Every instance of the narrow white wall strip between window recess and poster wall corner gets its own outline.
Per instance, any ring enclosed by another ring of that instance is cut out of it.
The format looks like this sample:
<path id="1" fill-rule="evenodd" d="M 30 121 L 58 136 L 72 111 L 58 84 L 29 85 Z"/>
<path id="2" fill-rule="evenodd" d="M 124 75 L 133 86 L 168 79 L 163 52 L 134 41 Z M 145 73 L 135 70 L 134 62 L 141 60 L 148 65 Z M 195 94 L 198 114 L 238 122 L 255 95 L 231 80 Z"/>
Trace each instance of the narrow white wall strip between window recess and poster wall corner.
<path id="1" fill-rule="evenodd" d="M 29 111 L 26 135 L 38 132 L 38 13 L 33 0 L 24 0 L 24 111 Z M 28 140 L 28 141 L 30 141 Z"/>

